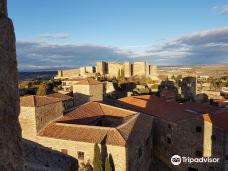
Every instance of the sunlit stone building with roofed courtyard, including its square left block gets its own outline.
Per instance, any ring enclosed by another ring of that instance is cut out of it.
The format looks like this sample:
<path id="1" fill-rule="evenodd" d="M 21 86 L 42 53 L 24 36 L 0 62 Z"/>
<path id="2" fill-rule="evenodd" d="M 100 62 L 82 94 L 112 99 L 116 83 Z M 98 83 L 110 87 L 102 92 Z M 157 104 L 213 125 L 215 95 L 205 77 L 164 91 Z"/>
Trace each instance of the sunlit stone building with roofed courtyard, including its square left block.
<path id="1" fill-rule="evenodd" d="M 31 98 L 21 101 L 23 137 L 76 158 L 80 167 L 93 165 L 96 143 L 103 161 L 112 156 L 116 171 L 149 170 L 153 117 L 98 102 L 89 102 L 63 116 L 59 101 L 49 99 L 44 105 L 39 99 L 31 103 Z M 52 113 L 48 112 L 50 108 Z"/>

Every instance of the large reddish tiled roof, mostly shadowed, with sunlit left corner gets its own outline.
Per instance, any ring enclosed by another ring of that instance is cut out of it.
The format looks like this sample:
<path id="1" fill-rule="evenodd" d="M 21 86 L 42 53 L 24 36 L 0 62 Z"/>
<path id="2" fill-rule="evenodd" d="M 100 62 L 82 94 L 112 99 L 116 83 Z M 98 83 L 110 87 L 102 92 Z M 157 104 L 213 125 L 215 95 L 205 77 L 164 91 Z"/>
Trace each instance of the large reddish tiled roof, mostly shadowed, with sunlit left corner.
<path id="1" fill-rule="evenodd" d="M 116 101 L 123 108 L 143 112 L 167 121 L 177 122 L 202 115 L 214 110 L 207 105 L 196 103 L 179 104 L 176 101 L 167 102 L 156 96 L 131 96 Z"/>

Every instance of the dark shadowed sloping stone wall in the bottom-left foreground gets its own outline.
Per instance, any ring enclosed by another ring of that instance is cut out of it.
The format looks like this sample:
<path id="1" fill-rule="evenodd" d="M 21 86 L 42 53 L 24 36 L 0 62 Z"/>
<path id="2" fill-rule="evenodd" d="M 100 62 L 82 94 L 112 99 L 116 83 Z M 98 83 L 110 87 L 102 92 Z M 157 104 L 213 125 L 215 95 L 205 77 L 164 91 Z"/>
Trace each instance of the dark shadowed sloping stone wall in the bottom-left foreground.
<path id="1" fill-rule="evenodd" d="M 78 161 L 59 151 L 44 147 L 33 141 L 22 140 L 24 154 L 24 170 L 78 170 Z"/>

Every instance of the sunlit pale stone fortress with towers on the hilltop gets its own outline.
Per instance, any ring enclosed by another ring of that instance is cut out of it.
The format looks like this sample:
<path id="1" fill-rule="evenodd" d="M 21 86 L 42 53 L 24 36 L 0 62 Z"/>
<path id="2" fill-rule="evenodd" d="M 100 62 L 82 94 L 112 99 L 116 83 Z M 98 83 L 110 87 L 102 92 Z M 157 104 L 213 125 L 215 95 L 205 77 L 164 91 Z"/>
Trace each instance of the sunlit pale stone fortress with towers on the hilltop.
<path id="1" fill-rule="evenodd" d="M 120 71 L 124 71 L 125 77 L 138 76 L 154 76 L 157 75 L 157 66 L 148 62 L 104 62 L 100 61 L 94 66 L 84 66 L 78 69 L 59 70 L 56 79 L 88 77 L 100 74 L 101 76 L 117 77 Z"/>

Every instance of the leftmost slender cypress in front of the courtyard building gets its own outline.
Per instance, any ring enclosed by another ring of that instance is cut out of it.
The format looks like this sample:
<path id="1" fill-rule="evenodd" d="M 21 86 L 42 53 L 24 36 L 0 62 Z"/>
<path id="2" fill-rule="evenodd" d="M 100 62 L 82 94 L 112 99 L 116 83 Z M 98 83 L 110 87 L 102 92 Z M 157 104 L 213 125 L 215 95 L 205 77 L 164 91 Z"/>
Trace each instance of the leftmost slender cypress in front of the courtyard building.
<path id="1" fill-rule="evenodd" d="M 101 150 L 98 144 L 94 145 L 93 171 L 102 171 Z"/>

